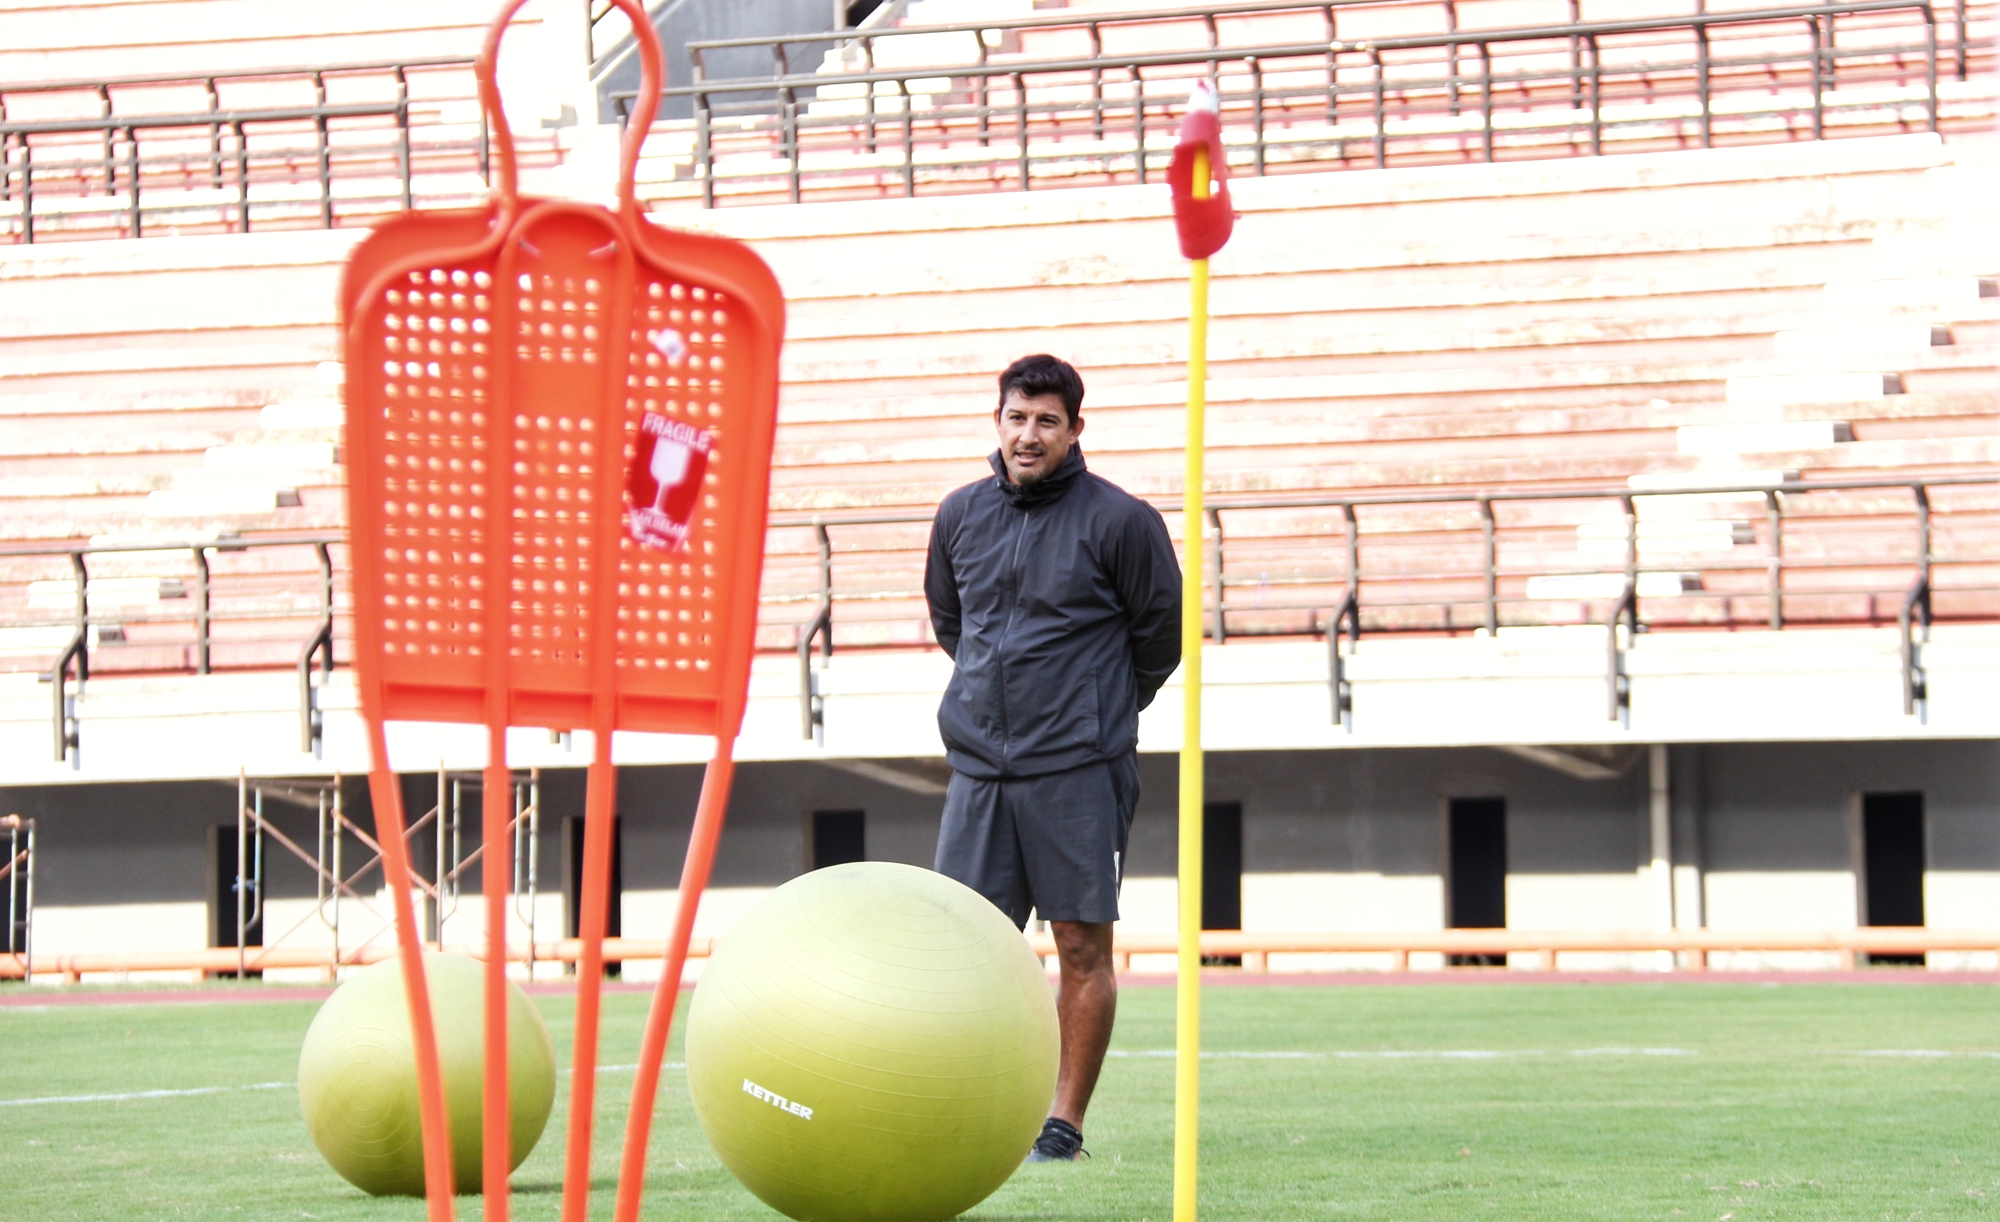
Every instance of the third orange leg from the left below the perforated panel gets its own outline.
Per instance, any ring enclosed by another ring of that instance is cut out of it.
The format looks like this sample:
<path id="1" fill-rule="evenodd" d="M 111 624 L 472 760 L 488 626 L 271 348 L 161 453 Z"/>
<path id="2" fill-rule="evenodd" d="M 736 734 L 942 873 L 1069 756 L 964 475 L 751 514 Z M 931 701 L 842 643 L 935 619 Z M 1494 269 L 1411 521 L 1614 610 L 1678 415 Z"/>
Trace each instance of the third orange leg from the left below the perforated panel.
<path id="1" fill-rule="evenodd" d="M 570 1052 L 570 1148 L 562 1166 L 562 1222 L 590 1216 L 590 1128 L 598 1102 L 598 1010 L 604 992 L 604 926 L 612 888 L 612 820 L 618 816 L 618 772 L 610 728 L 594 738 L 596 758 L 584 778 L 584 886 L 576 960 L 576 1044 Z"/>

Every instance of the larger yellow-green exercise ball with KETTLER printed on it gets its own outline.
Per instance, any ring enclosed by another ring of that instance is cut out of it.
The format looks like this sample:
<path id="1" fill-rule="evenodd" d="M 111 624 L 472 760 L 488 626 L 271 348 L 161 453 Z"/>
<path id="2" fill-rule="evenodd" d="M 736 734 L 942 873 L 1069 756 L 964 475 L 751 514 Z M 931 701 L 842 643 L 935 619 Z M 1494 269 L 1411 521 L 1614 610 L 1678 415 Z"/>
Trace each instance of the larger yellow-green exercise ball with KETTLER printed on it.
<path id="1" fill-rule="evenodd" d="M 1056 1054 L 1020 930 L 978 892 L 890 862 L 766 896 L 688 1012 L 702 1132 L 802 1222 L 932 1222 L 986 1200 L 1042 1130 Z"/>

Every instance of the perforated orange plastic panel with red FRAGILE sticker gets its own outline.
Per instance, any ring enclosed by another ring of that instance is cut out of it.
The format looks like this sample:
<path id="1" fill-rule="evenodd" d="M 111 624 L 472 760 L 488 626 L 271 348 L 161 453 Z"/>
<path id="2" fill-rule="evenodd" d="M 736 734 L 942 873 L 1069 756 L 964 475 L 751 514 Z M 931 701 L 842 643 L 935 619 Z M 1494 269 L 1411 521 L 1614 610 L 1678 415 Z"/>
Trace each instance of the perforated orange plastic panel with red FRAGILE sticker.
<path id="1" fill-rule="evenodd" d="M 418 214 L 350 264 L 356 640 L 378 716 L 492 720 L 498 516 L 508 724 L 592 724 L 608 610 L 618 728 L 734 734 L 782 302 L 748 248 L 532 200 L 512 230 Z M 602 530 L 616 580 L 598 580 Z"/>

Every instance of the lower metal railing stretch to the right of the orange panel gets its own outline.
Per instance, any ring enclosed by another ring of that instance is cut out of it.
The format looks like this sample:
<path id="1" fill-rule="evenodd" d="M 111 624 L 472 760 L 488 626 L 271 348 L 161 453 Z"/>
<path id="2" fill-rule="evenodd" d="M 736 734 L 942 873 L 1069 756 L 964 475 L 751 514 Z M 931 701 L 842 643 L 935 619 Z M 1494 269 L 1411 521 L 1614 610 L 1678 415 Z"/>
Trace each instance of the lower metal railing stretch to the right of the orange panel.
<path id="1" fill-rule="evenodd" d="M 1962 518 L 1954 522 L 1952 550 L 1940 550 L 1936 538 L 1936 494 L 1986 486 L 2000 486 L 2000 474 L 1662 490 L 1210 498 L 1200 526 L 1208 540 L 1204 576 L 1214 592 L 1204 608 L 1204 636 L 1218 644 L 1232 636 L 1324 636 L 1332 720 L 1352 730 L 1354 692 L 1346 656 L 1362 638 L 1364 624 L 1368 632 L 1388 634 L 1488 636 L 1502 628 L 1598 624 L 1606 632 L 1608 718 L 1622 720 L 1632 706 L 1626 650 L 1644 632 L 1894 622 L 1904 712 L 1920 716 L 1926 700 L 1922 648 L 1938 618 L 1936 600 L 1952 600 L 1948 618 L 2000 620 L 2000 598 L 1990 598 L 2000 594 L 2000 584 L 1992 584 L 1992 572 L 2000 568 L 2000 504 L 1968 498 L 1952 514 Z M 1908 516 L 1886 504 L 1856 504 L 1886 494 L 1910 496 Z M 1728 516 L 1644 518 L 1640 512 L 1644 502 L 1682 508 L 1704 498 Z M 1836 504 L 1816 504 L 1826 500 Z M 1736 516 L 1746 502 L 1762 502 L 1762 522 Z M 1560 506 L 1586 512 L 1552 512 Z M 1594 506 L 1614 508 L 1616 520 L 1588 512 Z M 1156 502 L 1156 508 L 1180 512 L 1176 502 Z M 1238 540 L 1236 550 L 1248 554 L 1230 558 L 1230 536 L 1222 528 L 1226 514 L 1236 520 L 1296 520 L 1302 512 L 1318 514 L 1326 528 L 1314 532 L 1316 522 L 1306 522 L 1286 534 L 1266 530 Z M 886 622 L 884 606 L 900 608 L 904 618 L 924 616 L 916 580 L 922 554 L 906 554 L 908 564 L 888 582 L 878 578 L 844 594 L 836 588 L 840 550 L 834 532 L 916 526 L 930 518 L 928 512 L 772 518 L 774 530 L 810 530 L 814 536 L 816 562 L 808 570 L 792 560 L 790 572 L 812 572 L 816 584 L 800 588 L 794 582 L 792 592 L 766 594 L 768 612 L 784 602 L 810 608 L 808 620 L 792 624 L 806 738 L 824 728 L 826 708 L 812 654 L 832 656 L 836 608 L 878 608 L 866 624 L 872 628 Z M 1364 532 L 1364 520 L 1376 518 L 1382 530 Z M 1654 526 L 1666 530 L 1656 532 Z M 1716 554 L 1714 544 L 1720 542 L 1728 544 L 1722 548 L 1726 554 Z M 1586 544 L 1604 560 L 1590 562 Z M 880 554 L 884 550 L 870 550 L 870 556 Z M 780 554 L 778 566 L 786 564 Z M 1280 564 L 1282 570 L 1272 574 Z M 1940 568 L 1962 580 L 1940 586 Z M 892 584 L 898 578 L 906 584 Z M 1654 592 L 1648 578 L 1660 578 L 1674 590 Z M 784 626 L 768 620 L 766 628 L 782 632 Z M 868 634 L 860 636 L 866 640 Z M 916 644 L 922 630 L 904 638 Z M 766 646 L 774 644 L 766 640 Z"/>

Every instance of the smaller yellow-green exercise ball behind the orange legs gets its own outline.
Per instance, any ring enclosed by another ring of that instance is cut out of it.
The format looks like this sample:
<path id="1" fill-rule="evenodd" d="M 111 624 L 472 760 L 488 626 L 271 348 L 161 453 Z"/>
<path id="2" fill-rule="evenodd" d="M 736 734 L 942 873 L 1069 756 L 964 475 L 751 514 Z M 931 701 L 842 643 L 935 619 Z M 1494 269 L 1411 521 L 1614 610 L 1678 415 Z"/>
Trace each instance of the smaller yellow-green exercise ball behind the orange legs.
<path id="1" fill-rule="evenodd" d="M 460 954 L 424 954 L 460 1192 L 480 1190 L 482 974 L 476 960 Z M 516 1168 L 534 1150 L 556 1102 L 556 1046 L 534 1004 L 512 982 L 506 1018 L 508 1168 Z M 374 1196 L 424 1194 L 416 1048 L 410 1044 L 400 960 L 362 968 L 320 1006 L 298 1054 L 298 1102 L 312 1144 L 346 1182 Z"/>

